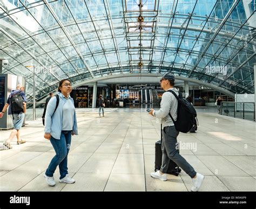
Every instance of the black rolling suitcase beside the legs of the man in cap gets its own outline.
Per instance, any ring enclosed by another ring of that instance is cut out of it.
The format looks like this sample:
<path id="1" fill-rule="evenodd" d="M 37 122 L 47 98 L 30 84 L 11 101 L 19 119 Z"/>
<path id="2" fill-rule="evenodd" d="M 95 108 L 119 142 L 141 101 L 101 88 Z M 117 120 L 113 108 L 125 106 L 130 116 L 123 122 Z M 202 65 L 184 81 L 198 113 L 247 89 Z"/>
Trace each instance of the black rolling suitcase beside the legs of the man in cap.
<path id="1" fill-rule="evenodd" d="M 161 130 L 162 130 L 162 125 L 161 125 Z M 161 140 L 162 140 L 162 132 L 161 132 Z M 155 144 L 154 171 L 160 170 L 161 164 L 162 164 L 161 140 L 157 141 Z M 170 159 L 167 173 L 172 174 L 174 176 L 179 176 L 180 171 L 181 169 L 179 168 L 179 166 Z"/>

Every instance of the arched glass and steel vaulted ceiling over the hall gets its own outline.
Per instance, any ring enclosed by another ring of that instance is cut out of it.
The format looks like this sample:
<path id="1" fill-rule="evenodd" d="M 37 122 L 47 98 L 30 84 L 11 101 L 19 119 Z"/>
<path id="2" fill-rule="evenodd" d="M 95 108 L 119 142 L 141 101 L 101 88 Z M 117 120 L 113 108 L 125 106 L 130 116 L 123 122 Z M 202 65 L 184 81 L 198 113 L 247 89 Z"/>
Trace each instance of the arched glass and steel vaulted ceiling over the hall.
<path id="1" fill-rule="evenodd" d="M 3 73 L 36 99 L 69 78 L 164 73 L 254 92 L 255 0 L 0 1 Z"/>

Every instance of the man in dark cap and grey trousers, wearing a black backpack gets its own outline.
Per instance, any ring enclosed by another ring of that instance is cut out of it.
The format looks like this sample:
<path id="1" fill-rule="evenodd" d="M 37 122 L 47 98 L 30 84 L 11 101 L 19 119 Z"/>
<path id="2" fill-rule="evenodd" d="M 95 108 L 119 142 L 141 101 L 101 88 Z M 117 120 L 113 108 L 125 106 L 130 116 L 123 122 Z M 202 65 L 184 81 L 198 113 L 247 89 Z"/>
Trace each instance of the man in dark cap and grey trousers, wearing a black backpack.
<path id="1" fill-rule="evenodd" d="M 193 186 L 191 188 L 191 191 L 196 192 L 199 190 L 201 184 L 203 183 L 204 176 L 200 173 L 197 173 L 194 168 L 185 160 L 185 158 L 183 158 L 179 154 L 177 149 L 177 137 L 179 135 L 179 131 L 177 131 L 177 128 L 179 127 L 179 130 L 187 132 L 192 127 L 192 125 L 189 127 L 180 127 L 180 124 L 185 124 L 185 122 L 181 122 L 178 118 L 178 115 L 180 116 L 180 112 L 178 112 L 178 104 L 179 102 L 184 103 L 184 105 L 181 107 L 183 108 L 183 110 L 186 105 L 188 108 L 191 108 L 191 104 L 187 102 L 186 99 L 180 97 L 178 90 L 173 87 L 174 80 L 174 75 L 172 75 L 171 73 L 165 73 L 162 76 L 160 80 L 160 85 L 161 88 L 165 90 L 165 92 L 163 93 L 161 99 L 160 110 L 155 111 L 154 109 L 151 109 L 151 112 L 149 112 L 149 114 L 151 114 L 152 116 L 156 118 L 161 118 L 161 124 L 164 127 L 163 130 L 161 130 L 163 134 L 163 140 L 161 144 L 161 150 L 163 153 L 162 165 L 160 171 L 151 173 L 151 177 L 166 181 L 166 173 L 169 166 L 169 159 L 171 159 L 172 161 L 174 161 L 174 163 L 181 167 L 188 174 L 188 176 L 192 178 Z M 176 94 L 176 96 L 174 95 L 174 93 Z M 177 98 L 180 98 L 180 101 Z M 179 111 L 183 110 L 179 109 Z M 188 116 L 190 117 L 190 114 L 188 114 Z M 193 117 L 193 114 L 191 117 Z"/>

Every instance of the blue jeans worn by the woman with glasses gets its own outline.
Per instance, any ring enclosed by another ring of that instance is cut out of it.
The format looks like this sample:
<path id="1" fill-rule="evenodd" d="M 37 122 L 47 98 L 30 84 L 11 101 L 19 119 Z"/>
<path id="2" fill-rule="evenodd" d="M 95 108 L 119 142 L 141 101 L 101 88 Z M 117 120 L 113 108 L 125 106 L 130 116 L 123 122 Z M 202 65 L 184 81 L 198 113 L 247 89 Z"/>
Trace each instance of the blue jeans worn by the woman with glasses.
<path id="1" fill-rule="evenodd" d="M 48 166 L 45 175 L 48 177 L 53 177 L 57 166 L 59 166 L 60 178 L 63 179 L 66 174 L 68 174 L 68 153 L 71 144 L 71 132 L 72 131 L 62 131 L 60 139 L 55 139 L 51 137 L 51 144 L 56 152 Z"/>

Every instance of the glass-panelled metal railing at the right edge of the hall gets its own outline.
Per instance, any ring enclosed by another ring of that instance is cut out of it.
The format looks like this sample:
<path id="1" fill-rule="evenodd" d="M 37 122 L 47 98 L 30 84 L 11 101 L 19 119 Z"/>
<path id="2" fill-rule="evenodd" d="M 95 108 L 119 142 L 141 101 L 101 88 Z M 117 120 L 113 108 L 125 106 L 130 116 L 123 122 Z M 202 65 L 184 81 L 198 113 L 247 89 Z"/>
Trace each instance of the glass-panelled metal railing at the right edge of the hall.
<path id="1" fill-rule="evenodd" d="M 254 102 L 222 102 L 220 114 L 255 121 Z"/>

